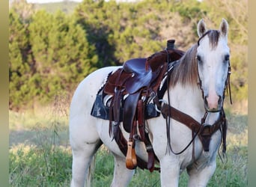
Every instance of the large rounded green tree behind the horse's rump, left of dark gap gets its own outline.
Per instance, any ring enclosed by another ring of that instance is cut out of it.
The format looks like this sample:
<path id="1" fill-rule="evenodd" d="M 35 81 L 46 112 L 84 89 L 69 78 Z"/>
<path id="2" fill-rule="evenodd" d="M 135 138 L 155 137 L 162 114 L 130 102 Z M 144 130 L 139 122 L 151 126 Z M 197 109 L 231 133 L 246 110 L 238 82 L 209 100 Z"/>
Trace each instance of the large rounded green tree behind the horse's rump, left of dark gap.
<path id="1" fill-rule="evenodd" d="M 37 67 L 37 86 L 44 102 L 56 91 L 72 91 L 74 84 L 95 70 L 97 55 L 86 33 L 61 11 L 54 15 L 37 11 L 29 26 Z"/>

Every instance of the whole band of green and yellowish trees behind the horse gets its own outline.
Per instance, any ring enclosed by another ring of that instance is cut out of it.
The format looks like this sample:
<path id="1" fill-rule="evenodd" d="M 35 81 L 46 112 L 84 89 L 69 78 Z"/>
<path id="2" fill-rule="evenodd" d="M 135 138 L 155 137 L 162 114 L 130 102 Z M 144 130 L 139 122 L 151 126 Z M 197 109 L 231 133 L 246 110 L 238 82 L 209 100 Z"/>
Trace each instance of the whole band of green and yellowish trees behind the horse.
<path id="1" fill-rule="evenodd" d="M 247 99 L 247 1 L 85 0 L 69 14 L 20 2 L 9 13 L 11 109 L 49 103 L 56 91 L 72 94 L 97 68 L 147 57 L 166 40 L 186 50 L 198 38 L 199 19 L 218 28 L 222 17 L 230 28 L 233 97 Z"/>

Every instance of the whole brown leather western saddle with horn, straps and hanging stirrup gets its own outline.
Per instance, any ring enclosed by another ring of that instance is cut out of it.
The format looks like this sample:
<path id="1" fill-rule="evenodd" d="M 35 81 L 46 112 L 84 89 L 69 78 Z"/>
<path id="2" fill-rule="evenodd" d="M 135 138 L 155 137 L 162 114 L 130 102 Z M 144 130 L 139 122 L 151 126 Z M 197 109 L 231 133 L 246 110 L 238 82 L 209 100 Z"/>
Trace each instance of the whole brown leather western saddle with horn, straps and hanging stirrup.
<path id="1" fill-rule="evenodd" d="M 109 135 L 118 143 L 126 157 L 129 169 L 147 168 L 150 172 L 158 170 L 154 167 L 153 147 L 145 130 L 145 105 L 157 95 L 157 90 L 168 71 L 168 63 L 179 60 L 184 52 L 174 49 L 175 40 L 167 41 L 167 48 L 156 52 L 148 58 L 134 58 L 126 61 L 120 69 L 109 76 L 103 92 L 112 95 L 109 107 Z M 125 98 L 125 99 L 124 99 Z M 122 110 L 121 110 L 122 109 Z M 124 129 L 129 132 L 129 140 L 124 138 L 120 129 L 123 121 Z M 148 161 L 144 162 L 135 154 L 135 141 L 143 141 L 148 153 Z"/>

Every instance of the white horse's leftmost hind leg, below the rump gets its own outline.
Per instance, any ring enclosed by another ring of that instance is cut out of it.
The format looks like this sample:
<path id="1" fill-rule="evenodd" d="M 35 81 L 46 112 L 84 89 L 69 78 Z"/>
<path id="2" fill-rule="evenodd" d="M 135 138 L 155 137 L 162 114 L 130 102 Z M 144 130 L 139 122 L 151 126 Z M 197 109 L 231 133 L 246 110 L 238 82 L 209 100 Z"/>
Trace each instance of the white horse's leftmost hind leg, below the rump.
<path id="1" fill-rule="evenodd" d="M 84 147 L 72 147 L 73 163 L 72 163 L 72 180 L 71 187 L 91 186 L 91 172 L 94 166 L 94 154 L 97 152 L 102 141 L 94 142 L 94 144 L 85 144 Z"/>

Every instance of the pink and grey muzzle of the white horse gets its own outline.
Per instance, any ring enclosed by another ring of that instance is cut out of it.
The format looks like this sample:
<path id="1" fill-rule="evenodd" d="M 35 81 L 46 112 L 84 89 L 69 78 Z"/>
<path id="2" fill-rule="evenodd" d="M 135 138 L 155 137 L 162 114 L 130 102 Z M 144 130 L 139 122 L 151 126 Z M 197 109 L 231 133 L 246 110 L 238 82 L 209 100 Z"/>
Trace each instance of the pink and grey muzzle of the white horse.
<path id="1" fill-rule="evenodd" d="M 209 112 L 217 112 L 222 110 L 222 96 L 204 96 L 204 108 Z"/>

